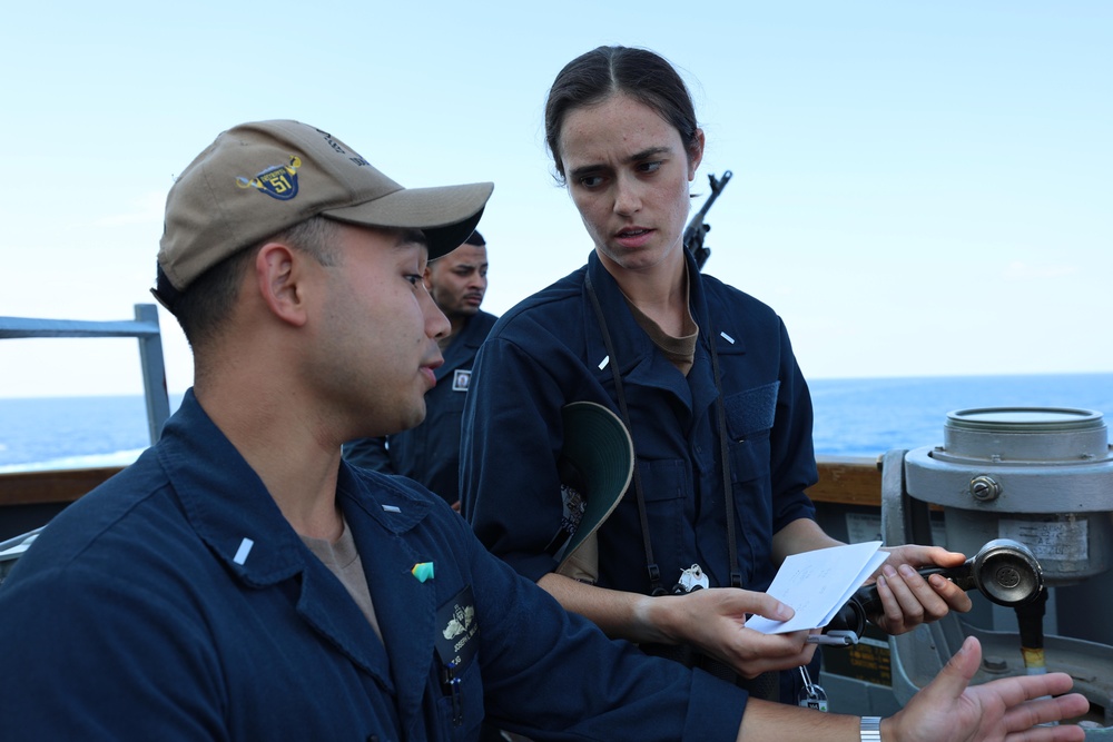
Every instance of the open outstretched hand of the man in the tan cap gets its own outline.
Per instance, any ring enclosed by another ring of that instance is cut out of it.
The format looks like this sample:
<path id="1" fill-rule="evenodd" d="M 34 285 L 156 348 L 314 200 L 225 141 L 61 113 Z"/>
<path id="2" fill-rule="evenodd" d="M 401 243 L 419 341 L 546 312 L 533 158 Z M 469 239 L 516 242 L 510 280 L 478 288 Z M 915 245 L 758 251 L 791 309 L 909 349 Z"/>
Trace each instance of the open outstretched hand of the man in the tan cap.
<path id="1" fill-rule="evenodd" d="M 1090 702 L 1071 690 L 1065 673 L 1003 677 L 969 686 L 982 663 L 982 645 L 967 637 L 963 647 L 926 687 L 881 723 L 881 739 L 902 742 L 1013 740 L 1052 742 L 1085 738 L 1081 726 L 1037 726 L 1080 716 Z"/>

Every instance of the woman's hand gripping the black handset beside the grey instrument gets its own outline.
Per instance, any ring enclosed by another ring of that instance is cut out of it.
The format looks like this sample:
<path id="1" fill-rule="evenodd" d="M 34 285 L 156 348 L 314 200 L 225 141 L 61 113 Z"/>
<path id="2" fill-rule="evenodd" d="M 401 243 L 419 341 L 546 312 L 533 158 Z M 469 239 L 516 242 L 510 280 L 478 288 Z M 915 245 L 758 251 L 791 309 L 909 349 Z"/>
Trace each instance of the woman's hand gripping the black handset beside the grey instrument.
<path id="1" fill-rule="evenodd" d="M 884 613 L 869 616 L 887 634 L 912 631 L 922 623 L 938 621 L 951 611 L 966 613 L 973 603 L 966 592 L 943 575 L 924 580 L 920 566 L 955 567 L 966 557 L 940 546 L 892 546 L 877 574 L 877 595 Z"/>

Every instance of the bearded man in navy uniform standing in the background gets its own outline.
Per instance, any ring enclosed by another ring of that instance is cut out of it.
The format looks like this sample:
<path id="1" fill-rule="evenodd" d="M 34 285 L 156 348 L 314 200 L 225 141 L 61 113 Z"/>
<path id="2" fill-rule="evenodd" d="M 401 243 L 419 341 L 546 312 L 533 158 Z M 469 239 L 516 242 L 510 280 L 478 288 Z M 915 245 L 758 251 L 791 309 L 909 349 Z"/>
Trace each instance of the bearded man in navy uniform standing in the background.
<path id="1" fill-rule="evenodd" d="M 451 329 L 439 340 L 444 365 L 436 386 L 425 395 L 425 422 L 382 438 L 344 445 L 349 464 L 416 479 L 460 509 L 460 421 L 480 345 L 494 326 L 494 315 L 480 309 L 487 286 L 486 241 L 479 230 L 425 268 L 425 288 L 449 318 Z"/>

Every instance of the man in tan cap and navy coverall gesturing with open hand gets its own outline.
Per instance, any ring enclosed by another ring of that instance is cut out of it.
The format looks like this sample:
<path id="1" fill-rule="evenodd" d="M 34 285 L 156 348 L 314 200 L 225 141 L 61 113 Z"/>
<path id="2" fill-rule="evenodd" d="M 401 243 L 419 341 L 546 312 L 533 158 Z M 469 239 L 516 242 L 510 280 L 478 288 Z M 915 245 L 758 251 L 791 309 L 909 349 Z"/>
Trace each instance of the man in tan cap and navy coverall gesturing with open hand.
<path id="1" fill-rule="evenodd" d="M 230 129 L 186 168 L 155 291 L 195 385 L 0 588 L 0 738 L 475 740 L 486 715 L 536 740 L 859 739 L 856 716 L 747 705 L 607 640 L 439 497 L 341 461 L 344 441 L 422 421 L 449 332 L 422 271 L 491 188 L 402 188 L 293 121 Z M 964 693 L 977 664 L 972 645 L 880 734 L 1001 739 L 1085 705 L 1003 716 L 1070 679 Z"/>

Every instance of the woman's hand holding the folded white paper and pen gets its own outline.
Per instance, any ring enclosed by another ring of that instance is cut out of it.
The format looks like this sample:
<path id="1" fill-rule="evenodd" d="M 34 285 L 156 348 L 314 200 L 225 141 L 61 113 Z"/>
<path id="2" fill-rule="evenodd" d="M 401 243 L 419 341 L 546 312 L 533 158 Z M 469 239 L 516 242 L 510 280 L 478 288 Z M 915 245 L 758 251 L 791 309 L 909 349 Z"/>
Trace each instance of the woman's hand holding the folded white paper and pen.
<path id="1" fill-rule="evenodd" d="M 670 613 L 667 623 L 672 641 L 692 644 L 745 677 L 771 670 L 790 670 L 811 662 L 815 644 L 807 631 L 762 634 L 746 629 L 747 614 L 774 621 L 792 617 L 792 609 L 766 593 L 733 587 L 697 590 L 687 595 L 654 597 L 657 609 Z"/>

